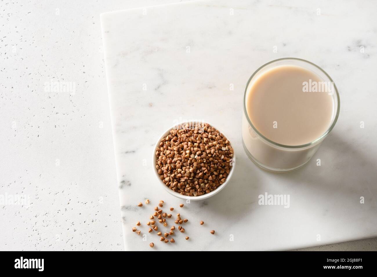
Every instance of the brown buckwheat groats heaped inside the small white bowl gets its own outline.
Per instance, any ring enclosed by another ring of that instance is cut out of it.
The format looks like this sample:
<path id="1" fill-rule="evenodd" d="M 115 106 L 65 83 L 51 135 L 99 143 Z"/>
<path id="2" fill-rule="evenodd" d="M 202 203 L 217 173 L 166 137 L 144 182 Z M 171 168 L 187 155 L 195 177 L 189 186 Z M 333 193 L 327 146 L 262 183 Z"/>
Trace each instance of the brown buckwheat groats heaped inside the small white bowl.
<path id="1" fill-rule="evenodd" d="M 200 196 L 223 184 L 232 166 L 233 148 L 207 123 L 187 123 L 163 138 L 156 149 L 162 182 L 186 196 Z"/>

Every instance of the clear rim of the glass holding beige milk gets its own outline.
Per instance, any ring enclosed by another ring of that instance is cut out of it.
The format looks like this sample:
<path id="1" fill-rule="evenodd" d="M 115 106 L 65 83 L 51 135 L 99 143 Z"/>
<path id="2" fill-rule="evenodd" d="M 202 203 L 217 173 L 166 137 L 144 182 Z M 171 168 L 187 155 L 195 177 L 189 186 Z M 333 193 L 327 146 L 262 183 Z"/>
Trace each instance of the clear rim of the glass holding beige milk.
<path id="1" fill-rule="evenodd" d="M 251 123 L 251 120 L 247 114 L 247 110 L 246 110 L 246 95 L 247 95 L 247 88 L 250 84 L 250 81 L 253 79 L 253 77 L 256 75 L 256 73 L 258 73 L 262 68 L 264 68 L 265 66 L 271 64 L 271 63 L 274 63 L 276 61 L 282 61 L 282 60 L 297 60 L 297 61 L 303 61 L 304 63 L 308 63 L 308 64 L 311 64 L 315 67 L 317 67 L 320 71 L 322 71 L 328 78 L 329 80 L 334 84 L 334 89 L 335 89 L 335 92 L 336 92 L 336 97 L 337 97 L 337 101 L 338 101 L 338 107 L 337 107 L 337 110 L 336 110 L 336 115 L 333 119 L 333 122 L 331 123 L 330 127 L 326 130 L 325 133 L 323 133 L 319 138 L 316 138 L 314 141 L 311 141 L 311 142 L 308 142 L 307 144 L 302 144 L 302 145 L 284 145 L 284 144 L 280 144 L 280 143 L 277 143 L 277 142 L 274 142 L 274 141 L 271 141 L 270 139 L 266 138 L 264 135 L 262 135 L 257 129 L 256 127 L 253 125 L 253 123 Z M 275 146 L 278 146 L 278 147 L 282 147 L 282 148 L 290 148 L 290 149 L 298 149 L 298 148 L 306 148 L 306 147 L 309 147 L 309 146 L 312 146 L 312 145 L 315 145 L 317 144 L 318 142 L 320 142 L 323 138 L 326 137 L 326 135 L 331 131 L 333 130 L 334 126 L 335 126 L 335 123 L 337 122 L 338 120 L 338 116 L 339 116 L 339 110 L 340 110 L 340 98 L 339 98 L 339 93 L 338 93 L 338 89 L 333 81 L 333 79 L 331 79 L 330 75 L 328 75 L 325 70 L 323 70 L 321 67 L 317 66 L 316 64 L 314 63 L 311 63 L 310 61 L 307 61 L 307 60 L 304 60 L 304 59 L 300 59 L 300 58 L 279 58 L 279 59 L 276 59 L 276 60 L 273 60 L 273 61 L 270 61 L 268 63 L 265 63 L 264 65 L 262 65 L 261 67 L 259 67 L 257 70 L 254 71 L 253 75 L 251 75 L 251 77 L 249 78 L 249 80 L 247 81 L 246 83 L 246 87 L 245 87 L 245 92 L 244 92 L 244 115 L 246 116 L 246 119 L 249 123 L 249 125 L 251 126 L 251 128 L 253 128 L 254 132 L 256 132 L 256 134 L 258 136 L 260 136 L 262 139 L 264 139 L 265 141 L 269 142 L 270 144 L 273 144 Z"/>

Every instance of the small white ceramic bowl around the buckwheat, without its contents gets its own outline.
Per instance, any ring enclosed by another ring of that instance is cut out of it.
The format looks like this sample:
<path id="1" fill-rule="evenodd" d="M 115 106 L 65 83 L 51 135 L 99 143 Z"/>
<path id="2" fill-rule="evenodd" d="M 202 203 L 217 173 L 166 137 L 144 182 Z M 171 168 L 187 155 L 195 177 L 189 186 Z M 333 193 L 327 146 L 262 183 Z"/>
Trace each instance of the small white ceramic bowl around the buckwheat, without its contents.
<path id="1" fill-rule="evenodd" d="M 187 121 L 187 122 L 180 123 L 179 125 L 185 125 L 186 123 L 189 123 L 189 122 L 195 122 L 195 121 Z M 208 122 L 205 122 L 205 123 L 208 123 Z M 210 123 L 208 123 L 208 124 L 210 124 Z M 219 130 L 219 131 L 221 132 L 221 129 L 216 128 L 216 126 L 213 126 L 212 124 L 210 124 L 210 125 L 211 125 L 211 127 L 214 127 L 216 130 Z M 157 169 L 156 169 L 156 160 L 157 160 L 157 157 L 156 157 L 156 149 L 157 149 L 157 147 L 159 147 L 159 144 L 160 144 L 162 138 L 165 138 L 167 135 L 169 135 L 169 134 L 170 134 L 170 130 L 172 130 L 172 129 L 176 128 L 176 127 L 177 127 L 177 126 L 174 125 L 174 126 L 170 127 L 169 129 L 167 129 L 167 130 L 166 130 L 166 131 L 165 131 L 165 132 L 159 137 L 158 141 L 157 141 L 156 144 L 155 144 L 155 147 L 153 148 L 153 159 L 152 159 L 152 161 L 153 161 L 153 172 L 154 172 L 154 174 L 155 174 L 155 176 L 156 176 L 156 178 L 157 178 L 157 180 L 158 180 L 158 181 L 157 181 L 157 182 L 158 182 L 158 185 L 161 186 L 161 187 L 162 187 L 165 191 L 167 191 L 168 193 L 172 194 L 173 196 L 178 197 L 178 198 L 181 198 L 181 199 L 190 199 L 190 201 L 191 201 L 191 200 L 203 200 L 203 199 L 207 199 L 208 197 L 211 197 L 211 196 L 215 195 L 216 193 L 219 193 L 219 192 L 220 192 L 223 188 L 225 188 L 225 186 L 230 182 L 230 179 L 231 179 L 231 177 L 232 177 L 232 175 L 233 175 L 234 166 L 236 165 L 236 155 L 235 155 L 235 153 L 234 153 L 234 148 L 233 148 L 233 157 L 232 157 L 232 159 L 233 159 L 233 165 L 232 165 L 232 167 L 231 167 L 231 169 L 230 169 L 230 172 L 229 172 L 229 174 L 228 174 L 228 176 L 227 176 L 227 179 L 225 180 L 225 182 L 224 182 L 222 185 L 220 185 L 218 188 L 216 188 L 216 190 L 213 190 L 213 191 L 211 191 L 210 193 L 205 193 L 205 194 L 203 194 L 203 195 L 199 195 L 199 196 L 186 196 L 186 195 L 182 195 L 182 194 L 180 194 L 180 193 L 178 193 L 178 192 L 176 192 L 176 191 L 171 190 L 169 187 L 167 187 L 167 185 L 164 184 L 164 182 L 162 182 L 162 180 L 161 180 L 159 174 L 157 173 Z M 222 133 L 222 132 L 221 132 L 221 133 Z M 224 133 L 222 133 L 222 134 L 223 134 L 227 139 L 229 139 L 227 135 L 225 135 Z M 232 144 L 231 144 L 231 141 L 230 141 L 230 145 L 232 145 Z M 232 145 L 232 147 L 233 147 L 233 145 Z"/>

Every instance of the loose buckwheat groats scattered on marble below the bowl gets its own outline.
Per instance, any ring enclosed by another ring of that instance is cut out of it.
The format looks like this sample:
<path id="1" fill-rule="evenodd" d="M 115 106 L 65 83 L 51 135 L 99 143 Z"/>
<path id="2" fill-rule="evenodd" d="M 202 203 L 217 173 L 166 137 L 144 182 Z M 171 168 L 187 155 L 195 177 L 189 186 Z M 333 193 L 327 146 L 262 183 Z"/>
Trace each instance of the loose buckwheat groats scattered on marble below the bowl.
<path id="1" fill-rule="evenodd" d="M 145 200 L 145 204 L 149 204 L 150 201 L 149 199 Z M 180 204 L 179 207 L 180 208 L 183 208 L 183 204 Z M 138 207 L 143 207 L 143 203 L 139 203 L 138 204 Z M 166 230 L 166 233 L 162 234 L 162 227 L 161 229 L 159 230 L 157 224 L 156 224 L 156 221 L 155 221 L 155 217 L 157 217 L 158 219 L 158 222 L 162 224 L 163 227 L 167 227 L 168 226 L 168 223 L 167 223 L 167 220 L 166 218 L 171 218 L 172 217 L 172 214 L 167 214 L 167 213 L 164 213 L 162 211 L 162 207 L 164 207 L 164 201 L 163 200 L 160 200 L 159 204 L 158 204 L 158 207 L 155 207 L 155 212 L 149 217 L 150 221 L 148 221 L 146 224 L 147 226 L 149 226 L 149 230 L 148 230 L 148 233 L 152 233 L 153 231 L 156 231 L 157 233 L 157 236 L 160 236 L 160 241 L 161 242 L 164 242 L 164 243 L 168 243 L 169 240 L 167 239 L 168 236 L 173 236 L 174 235 L 174 230 L 175 230 L 175 225 L 172 225 L 170 227 L 170 230 Z M 161 208 L 161 209 L 160 209 Z M 170 211 L 173 211 L 174 208 L 173 207 L 170 207 Z M 181 214 L 178 213 L 177 214 L 177 217 L 176 217 L 176 220 L 174 221 L 175 224 L 178 224 L 178 230 L 181 232 L 181 233 L 185 233 L 185 229 L 181 226 L 183 223 L 186 223 L 188 222 L 189 220 L 188 219 L 182 219 L 181 218 Z M 204 222 L 203 221 L 200 221 L 199 222 L 200 225 L 203 225 Z M 140 221 L 136 222 L 136 226 L 140 226 L 141 223 Z M 141 231 L 138 230 L 136 227 L 133 227 L 132 228 L 132 232 L 135 232 L 136 234 L 140 235 L 141 234 Z M 210 231 L 211 234 L 215 234 L 215 230 L 211 230 Z M 188 240 L 189 237 L 185 237 L 185 240 Z M 174 238 L 172 237 L 170 239 L 170 242 L 171 243 L 174 243 L 175 240 Z M 154 247 L 155 246 L 155 243 L 151 242 L 149 243 L 149 246 L 150 247 Z"/>

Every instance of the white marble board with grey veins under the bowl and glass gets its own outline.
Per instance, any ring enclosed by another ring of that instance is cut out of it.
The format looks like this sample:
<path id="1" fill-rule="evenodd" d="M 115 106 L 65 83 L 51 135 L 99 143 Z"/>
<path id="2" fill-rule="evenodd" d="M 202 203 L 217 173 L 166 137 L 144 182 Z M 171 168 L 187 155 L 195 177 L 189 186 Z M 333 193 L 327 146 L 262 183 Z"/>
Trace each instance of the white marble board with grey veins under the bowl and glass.
<path id="1" fill-rule="evenodd" d="M 219 0 L 101 15 L 126 249 L 150 249 L 149 242 L 158 250 L 294 249 L 376 236 L 375 8 L 368 1 Z M 242 95 L 259 66 L 292 56 L 329 73 L 341 111 L 314 159 L 274 174 L 242 149 Z M 220 193 L 177 208 L 181 200 L 156 185 L 151 153 L 167 127 L 195 116 L 228 134 L 236 170 Z M 258 205 L 265 192 L 289 194 L 290 208 Z M 145 198 L 152 203 L 137 207 Z M 189 241 L 178 233 L 175 245 L 165 244 L 147 232 L 159 199 L 189 219 Z M 131 231 L 137 220 L 144 236 Z"/>

